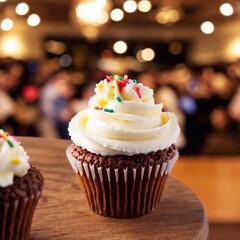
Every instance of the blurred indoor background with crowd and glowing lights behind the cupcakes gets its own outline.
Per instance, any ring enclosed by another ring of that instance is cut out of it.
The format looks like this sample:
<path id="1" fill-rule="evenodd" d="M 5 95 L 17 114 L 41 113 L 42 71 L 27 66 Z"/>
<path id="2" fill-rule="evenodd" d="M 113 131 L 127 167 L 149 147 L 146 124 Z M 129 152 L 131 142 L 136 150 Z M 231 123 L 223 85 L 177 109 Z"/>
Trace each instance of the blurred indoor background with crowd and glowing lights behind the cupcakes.
<path id="1" fill-rule="evenodd" d="M 0 0 L 0 127 L 66 139 L 95 83 L 128 74 L 177 114 L 182 154 L 240 153 L 239 29 L 239 1 Z"/>

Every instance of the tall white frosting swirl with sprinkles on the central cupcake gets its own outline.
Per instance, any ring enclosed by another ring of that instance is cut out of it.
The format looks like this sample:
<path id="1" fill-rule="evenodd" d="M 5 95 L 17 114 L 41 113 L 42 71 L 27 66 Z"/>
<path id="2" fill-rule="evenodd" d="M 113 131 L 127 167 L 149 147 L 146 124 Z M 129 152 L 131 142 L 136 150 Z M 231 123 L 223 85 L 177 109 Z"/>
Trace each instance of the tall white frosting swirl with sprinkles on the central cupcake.
<path id="1" fill-rule="evenodd" d="M 126 84 L 125 84 L 126 83 Z M 89 107 L 69 124 L 72 141 L 101 155 L 134 155 L 168 148 L 180 128 L 173 113 L 155 104 L 153 90 L 127 77 L 97 84 Z"/>

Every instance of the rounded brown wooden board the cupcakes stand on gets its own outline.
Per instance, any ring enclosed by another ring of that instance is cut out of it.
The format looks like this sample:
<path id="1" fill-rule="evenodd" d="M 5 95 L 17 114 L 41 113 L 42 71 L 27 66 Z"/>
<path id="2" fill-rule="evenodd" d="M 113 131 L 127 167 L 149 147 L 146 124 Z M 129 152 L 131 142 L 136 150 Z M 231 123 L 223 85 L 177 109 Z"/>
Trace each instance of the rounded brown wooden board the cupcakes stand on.
<path id="1" fill-rule="evenodd" d="M 112 219 L 92 213 L 65 157 L 67 140 L 19 138 L 45 178 L 31 239 L 207 239 L 208 221 L 198 197 L 169 177 L 159 206 L 140 218 Z"/>

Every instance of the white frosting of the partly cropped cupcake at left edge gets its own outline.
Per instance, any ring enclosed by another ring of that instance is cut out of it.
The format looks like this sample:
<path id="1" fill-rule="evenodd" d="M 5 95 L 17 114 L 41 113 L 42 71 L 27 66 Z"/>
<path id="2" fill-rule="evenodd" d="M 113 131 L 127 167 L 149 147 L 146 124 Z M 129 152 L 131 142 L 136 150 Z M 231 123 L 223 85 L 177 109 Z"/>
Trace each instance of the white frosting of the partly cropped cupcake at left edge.
<path id="1" fill-rule="evenodd" d="M 24 176 L 30 168 L 23 147 L 0 129 L 0 187 L 13 184 L 14 176 Z"/>

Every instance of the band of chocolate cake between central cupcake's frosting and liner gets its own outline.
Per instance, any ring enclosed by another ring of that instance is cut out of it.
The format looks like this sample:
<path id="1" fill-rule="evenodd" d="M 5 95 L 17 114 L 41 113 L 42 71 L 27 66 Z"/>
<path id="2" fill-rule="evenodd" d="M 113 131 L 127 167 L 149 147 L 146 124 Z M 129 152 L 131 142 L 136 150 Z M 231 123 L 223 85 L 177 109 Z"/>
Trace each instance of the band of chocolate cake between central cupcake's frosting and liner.
<path id="1" fill-rule="evenodd" d="M 169 148 L 164 150 L 158 150 L 156 152 L 150 152 L 147 154 L 135 154 L 132 156 L 115 155 L 115 156 L 102 156 L 94 154 L 80 146 L 72 144 L 71 154 L 79 161 L 87 162 L 88 164 L 94 164 L 96 167 L 105 166 L 118 168 L 123 167 L 126 169 L 128 166 L 136 168 L 138 165 L 153 166 L 154 164 L 161 164 L 172 159 L 178 150 L 175 144 L 172 144 Z"/>

